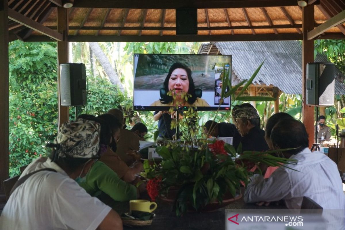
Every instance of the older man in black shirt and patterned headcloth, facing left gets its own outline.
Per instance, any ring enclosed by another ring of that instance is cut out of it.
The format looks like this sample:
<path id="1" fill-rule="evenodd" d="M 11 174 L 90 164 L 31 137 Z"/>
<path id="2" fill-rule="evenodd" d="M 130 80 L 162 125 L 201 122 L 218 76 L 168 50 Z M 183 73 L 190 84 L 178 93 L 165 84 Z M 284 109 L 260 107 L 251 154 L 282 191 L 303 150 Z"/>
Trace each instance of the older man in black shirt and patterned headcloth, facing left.
<path id="1" fill-rule="evenodd" d="M 266 151 L 265 131 L 260 129 L 260 117 L 249 103 L 235 106 L 232 111 L 233 122 L 242 136 L 242 151 Z"/>

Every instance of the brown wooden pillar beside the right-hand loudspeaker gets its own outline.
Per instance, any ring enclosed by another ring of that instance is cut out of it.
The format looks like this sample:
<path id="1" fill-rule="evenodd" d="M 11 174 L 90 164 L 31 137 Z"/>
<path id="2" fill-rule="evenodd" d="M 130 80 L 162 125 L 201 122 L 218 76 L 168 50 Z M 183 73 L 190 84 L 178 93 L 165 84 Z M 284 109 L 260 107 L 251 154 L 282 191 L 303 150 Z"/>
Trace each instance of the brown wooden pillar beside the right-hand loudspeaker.
<path id="1" fill-rule="evenodd" d="M 302 8 L 302 97 L 303 110 L 302 117 L 305 128 L 309 136 L 309 148 L 314 143 L 314 106 L 306 104 L 306 66 L 308 62 L 314 62 L 314 39 L 307 39 L 307 32 L 314 29 L 314 5 Z"/>

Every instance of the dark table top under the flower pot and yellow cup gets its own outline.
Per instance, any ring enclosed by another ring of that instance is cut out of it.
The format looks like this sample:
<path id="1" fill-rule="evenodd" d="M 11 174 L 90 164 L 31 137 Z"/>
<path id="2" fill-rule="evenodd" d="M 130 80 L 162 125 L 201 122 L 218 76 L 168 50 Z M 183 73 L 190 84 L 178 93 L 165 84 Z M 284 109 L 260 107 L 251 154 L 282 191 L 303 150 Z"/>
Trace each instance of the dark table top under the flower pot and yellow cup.
<path id="1" fill-rule="evenodd" d="M 144 195 L 141 199 L 147 199 Z M 255 204 L 246 204 L 243 197 L 230 203 L 228 206 L 213 212 L 187 212 L 181 217 L 176 216 L 170 204 L 164 201 L 157 201 L 158 207 L 154 211 L 156 217 L 151 226 L 129 227 L 124 229 L 140 230 L 223 230 L 225 229 L 225 209 L 286 209 L 284 205 L 268 207 L 257 206 Z M 114 202 L 111 207 L 118 213 L 129 211 L 129 202 Z"/>

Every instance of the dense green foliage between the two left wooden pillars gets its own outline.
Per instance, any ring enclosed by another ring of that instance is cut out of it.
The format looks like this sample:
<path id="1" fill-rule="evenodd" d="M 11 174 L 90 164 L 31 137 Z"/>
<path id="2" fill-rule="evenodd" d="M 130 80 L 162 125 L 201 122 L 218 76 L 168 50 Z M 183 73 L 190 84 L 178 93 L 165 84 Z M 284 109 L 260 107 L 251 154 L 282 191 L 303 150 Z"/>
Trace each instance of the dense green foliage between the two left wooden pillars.
<path id="1" fill-rule="evenodd" d="M 48 152 L 42 146 L 56 136 L 56 43 L 9 44 L 10 176 Z"/>

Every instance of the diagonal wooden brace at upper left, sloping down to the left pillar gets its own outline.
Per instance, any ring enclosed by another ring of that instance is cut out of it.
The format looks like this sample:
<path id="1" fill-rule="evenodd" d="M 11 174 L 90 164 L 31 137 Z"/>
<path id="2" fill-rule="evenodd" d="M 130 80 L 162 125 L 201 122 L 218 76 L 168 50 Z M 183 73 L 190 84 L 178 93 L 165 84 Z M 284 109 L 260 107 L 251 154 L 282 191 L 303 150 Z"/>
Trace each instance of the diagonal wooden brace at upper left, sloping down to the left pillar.
<path id="1" fill-rule="evenodd" d="M 26 26 L 30 29 L 33 29 L 39 33 L 42 33 L 50 38 L 53 38 L 58 41 L 62 41 L 62 34 L 56 32 L 55 30 L 49 29 L 48 27 L 42 26 L 40 23 L 25 17 L 23 14 L 18 13 L 12 9 L 8 9 L 8 18 Z"/>

